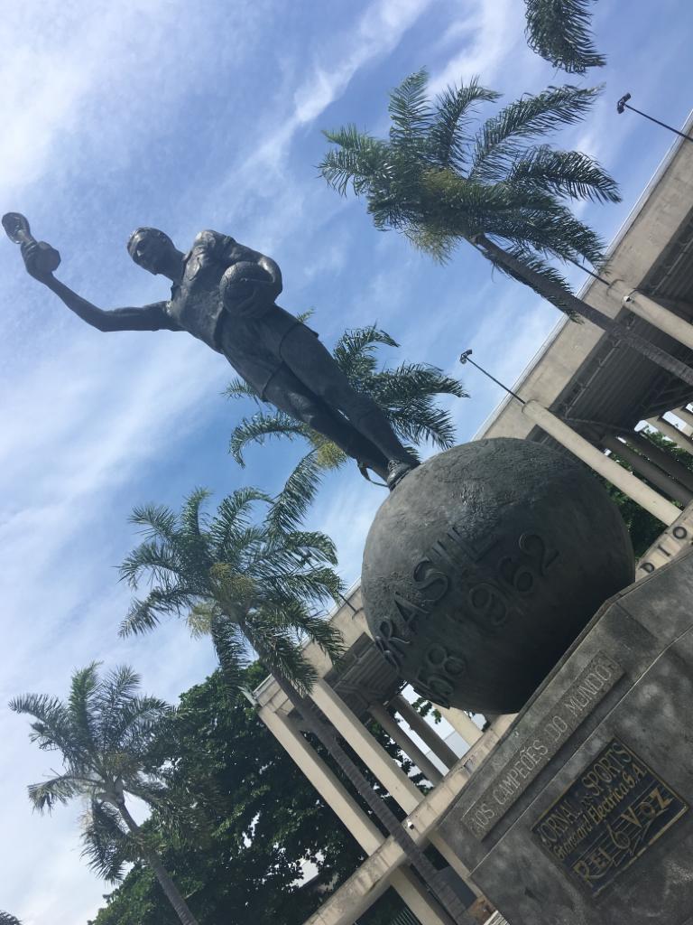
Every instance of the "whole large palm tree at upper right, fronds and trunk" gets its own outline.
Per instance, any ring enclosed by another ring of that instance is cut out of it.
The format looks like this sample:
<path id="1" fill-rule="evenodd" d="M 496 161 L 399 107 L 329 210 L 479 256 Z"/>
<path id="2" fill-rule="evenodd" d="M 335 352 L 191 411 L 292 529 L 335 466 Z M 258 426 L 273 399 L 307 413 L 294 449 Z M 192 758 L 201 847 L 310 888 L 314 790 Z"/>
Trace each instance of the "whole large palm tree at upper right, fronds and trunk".
<path id="1" fill-rule="evenodd" d="M 391 93 L 387 141 L 353 125 L 325 133 L 337 146 L 320 165 L 329 185 L 343 195 L 351 186 L 366 198 L 376 228 L 402 231 L 439 261 L 468 241 L 574 320 L 587 318 L 693 385 L 693 369 L 577 299 L 548 262 L 603 262 L 602 240 L 566 202 L 618 202 L 614 179 L 587 154 L 536 143 L 576 123 L 598 90 L 565 86 L 528 93 L 472 132 L 475 106 L 499 94 L 471 80 L 448 88 L 432 105 L 427 86 L 427 73 L 420 70 Z"/>

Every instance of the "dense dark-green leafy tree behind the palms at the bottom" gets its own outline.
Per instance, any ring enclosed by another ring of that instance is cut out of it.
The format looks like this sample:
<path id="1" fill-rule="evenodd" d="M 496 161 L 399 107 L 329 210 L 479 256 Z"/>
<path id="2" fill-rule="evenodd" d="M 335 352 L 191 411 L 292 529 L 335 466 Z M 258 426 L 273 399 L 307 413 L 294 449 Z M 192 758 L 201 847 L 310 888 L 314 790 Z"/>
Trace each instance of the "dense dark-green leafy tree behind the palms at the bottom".
<path id="1" fill-rule="evenodd" d="M 243 672 L 253 689 L 267 672 L 255 662 Z M 376 732 L 375 730 L 373 730 Z M 380 734 L 395 757 L 401 753 Z M 316 743 L 322 758 L 330 761 Z M 206 925 L 302 925 L 324 893 L 343 882 L 365 856 L 249 701 L 213 672 L 180 698 L 153 749 L 172 789 L 201 796 L 208 840 L 177 844 L 156 810 L 146 825 L 163 833 L 167 870 L 185 882 Z M 405 764 L 405 766 L 407 766 Z M 315 878 L 301 882 L 310 861 Z M 396 906 L 390 906 L 389 922 Z M 384 910 L 383 910 L 384 914 Z M 93 925 L 174 925 L 151 871 L 136 865 L 107 899 Z"/>

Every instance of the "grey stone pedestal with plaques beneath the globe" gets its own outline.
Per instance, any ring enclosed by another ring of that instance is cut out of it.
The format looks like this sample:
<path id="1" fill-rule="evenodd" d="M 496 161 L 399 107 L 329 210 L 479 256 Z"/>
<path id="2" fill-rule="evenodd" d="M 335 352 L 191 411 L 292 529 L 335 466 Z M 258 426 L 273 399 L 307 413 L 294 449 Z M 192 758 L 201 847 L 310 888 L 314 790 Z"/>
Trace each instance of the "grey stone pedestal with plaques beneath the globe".
<path id="1" fill-rule="evenodd" d="M 510 925 L 693 922 L 693 551 L 608 601 L 441 833 Z"/>

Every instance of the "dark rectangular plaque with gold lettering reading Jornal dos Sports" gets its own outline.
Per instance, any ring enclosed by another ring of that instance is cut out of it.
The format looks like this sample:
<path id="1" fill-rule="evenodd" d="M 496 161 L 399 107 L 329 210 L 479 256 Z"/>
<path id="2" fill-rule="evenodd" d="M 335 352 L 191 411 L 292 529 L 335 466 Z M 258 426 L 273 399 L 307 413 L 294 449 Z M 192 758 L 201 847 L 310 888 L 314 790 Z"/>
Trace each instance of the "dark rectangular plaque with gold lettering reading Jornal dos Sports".
<path id="1" fill-rule="evenodd" d="M 571 879 L 597 896 L 687 809 L 671 787 L 614 738 L 531 832 Z"/>

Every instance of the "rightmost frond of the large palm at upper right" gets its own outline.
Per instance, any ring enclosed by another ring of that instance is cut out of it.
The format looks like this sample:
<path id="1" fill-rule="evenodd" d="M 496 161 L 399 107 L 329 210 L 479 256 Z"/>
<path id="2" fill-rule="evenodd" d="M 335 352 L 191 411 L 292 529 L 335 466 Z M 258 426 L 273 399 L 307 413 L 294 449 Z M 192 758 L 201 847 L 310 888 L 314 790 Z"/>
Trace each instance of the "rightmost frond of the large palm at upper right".
<path id="1" fill-rule="evenodd" d="M 579 151 L 555 151 L 549 145 L 520 154 L 508 170 L 507 182 L 568 199 L 621 202 L 618 184 L 595 160 Z"/>

